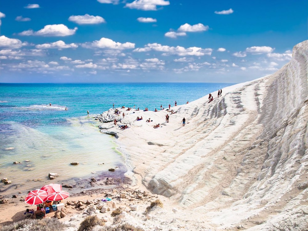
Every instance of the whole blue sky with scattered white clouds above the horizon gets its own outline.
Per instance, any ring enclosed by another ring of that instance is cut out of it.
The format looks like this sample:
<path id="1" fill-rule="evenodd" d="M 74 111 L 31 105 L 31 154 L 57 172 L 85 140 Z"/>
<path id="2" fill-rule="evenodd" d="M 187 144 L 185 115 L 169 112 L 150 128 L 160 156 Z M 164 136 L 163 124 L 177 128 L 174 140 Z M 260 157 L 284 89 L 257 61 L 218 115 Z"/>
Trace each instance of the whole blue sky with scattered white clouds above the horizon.
<path id="1" fill-rule="evenodd" d="M 224 82 L 272 74 L 308 2 L 0 0 L 0 82 Z"/>

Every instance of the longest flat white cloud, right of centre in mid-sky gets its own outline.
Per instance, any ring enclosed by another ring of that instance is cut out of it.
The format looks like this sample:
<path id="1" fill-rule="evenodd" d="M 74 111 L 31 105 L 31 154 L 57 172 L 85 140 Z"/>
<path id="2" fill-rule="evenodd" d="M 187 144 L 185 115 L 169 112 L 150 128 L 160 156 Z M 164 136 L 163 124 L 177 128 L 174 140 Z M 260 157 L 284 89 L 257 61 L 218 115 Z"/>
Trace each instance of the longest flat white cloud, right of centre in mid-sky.
<path id="1" fill-rule="evenodd" d="M 179 56 L 185 56 L 185 55 L 191 55 L 191 56 L 203 56 L 203 55 L 211 55 L 212 49 L 211 48 L 205 48 L 202 49 L 200 47 L 169 47 L 169 46 L 162 46 L 158 43 L 148 43 L 143 48 L 136 48 L 135 52 L 145 52 L 145 51 L 160 51 L 165 52 L 162 55 L 179 55 Z"/>

